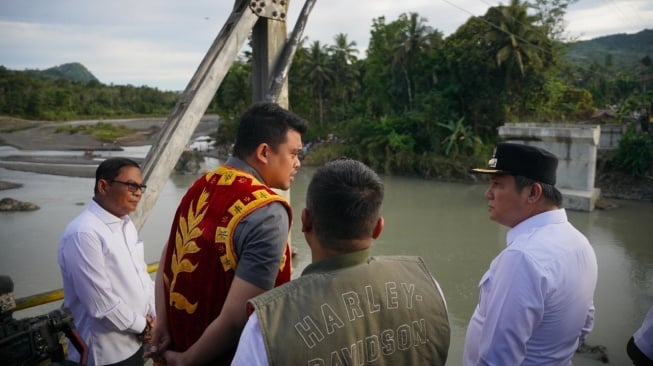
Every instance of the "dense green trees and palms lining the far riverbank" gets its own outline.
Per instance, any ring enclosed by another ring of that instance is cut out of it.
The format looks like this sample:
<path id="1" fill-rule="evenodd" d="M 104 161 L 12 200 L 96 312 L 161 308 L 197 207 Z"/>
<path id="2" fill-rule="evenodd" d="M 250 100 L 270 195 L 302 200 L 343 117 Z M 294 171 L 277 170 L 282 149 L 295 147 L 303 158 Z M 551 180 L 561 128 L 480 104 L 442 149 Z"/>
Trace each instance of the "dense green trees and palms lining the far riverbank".
<path id="1" fill-rule="evenodd" d="M 311 159 L 346 154 L 384 173 L 456 178 L 485 161 L 505 122 L 584 121 L 603 108 L 621 121 L 648 113 L 653 66 L 646 48 L 630 68 L 611 61 L 618 44 L 601 59 L 565 57 L 588 44 L 560 39 L 575 1 L 511 0 L 446 38 L 416 13 L 379 17 L 364 56 L 346 34 L 336 34 L 333 44 L 304 39 L 288 83 L 291 109 L 311 121 Z M 651 37 L 637 35 L 643 44 Z M 209 106 L 221 117 L 218 142 L 233 140 L 234 120 L 251 102 L 251 73 L 245 54 Z M 176 97 L 147 87 L 34 79 L 0 67 L 5 115 L 165 115 Z"/>

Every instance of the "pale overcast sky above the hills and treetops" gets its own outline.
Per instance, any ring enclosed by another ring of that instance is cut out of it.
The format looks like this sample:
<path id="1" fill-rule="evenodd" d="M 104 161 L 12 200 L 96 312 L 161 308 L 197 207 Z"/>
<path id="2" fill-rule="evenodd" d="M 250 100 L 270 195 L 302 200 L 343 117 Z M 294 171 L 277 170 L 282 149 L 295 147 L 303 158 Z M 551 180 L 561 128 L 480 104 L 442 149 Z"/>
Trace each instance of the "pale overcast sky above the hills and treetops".
<path id="1" fill-rule="evenodd" d="M 507 4 L 509 1 L 504 0 Z M 416 12 L 445 36 L 496 0 L 317 0 L 304 36 L 345 33 L 367 48 L 372 19 Z M 80 62 L 102 83 L 183 90 L 227 19 L 232 0 L 0 0 L 0 65 L 47 69 Z M 288 32 L 304 1 L 290 0 Z M 591 39 L 653 28 L 651 0 L 580 0 L 567 36 Z M 364 52 L 359 57 L 364 57 Z"/>

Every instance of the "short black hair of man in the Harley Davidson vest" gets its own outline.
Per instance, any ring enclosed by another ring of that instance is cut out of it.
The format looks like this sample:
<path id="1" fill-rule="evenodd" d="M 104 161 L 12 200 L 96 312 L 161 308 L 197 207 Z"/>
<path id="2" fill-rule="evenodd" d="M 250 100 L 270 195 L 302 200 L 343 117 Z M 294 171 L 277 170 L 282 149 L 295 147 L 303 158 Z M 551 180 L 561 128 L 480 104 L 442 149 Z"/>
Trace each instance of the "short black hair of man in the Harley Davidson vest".
<path id="1" fill-rule="evenodd" d="M 379 176 L 360 161 L 339 158 L 315 171 L 306 193 L 306 209 L 320 243 L 347 251 L 352 239 L 370 238 L 384 194 Z"/>

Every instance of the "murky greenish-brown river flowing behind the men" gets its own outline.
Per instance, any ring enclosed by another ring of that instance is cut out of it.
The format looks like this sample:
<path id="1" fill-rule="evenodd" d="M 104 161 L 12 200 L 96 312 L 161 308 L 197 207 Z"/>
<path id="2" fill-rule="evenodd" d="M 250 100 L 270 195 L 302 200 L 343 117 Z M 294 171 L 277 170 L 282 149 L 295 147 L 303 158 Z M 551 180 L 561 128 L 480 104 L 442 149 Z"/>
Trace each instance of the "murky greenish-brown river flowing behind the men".
<path id="1" fill-rule="evenodd" d="M 144 151 L 134 148 L 120 154 L 144 156 Z M 218 164 L 216 159 L 207 159 L 204 168 Z M 310 262 L 310 252 L 300 232 L 299 213 L 313 171 L 303 167 L 290 192 L 295 212 L 292 244 L 297 251 L 294 276 Z M 159 259 L 177 203 L 196 177 L 173 174 L 162 190 L 141 230 L 148 262 Z M 447 364 L 460 365 L 466 325 L 478 296 L 478 281 L 505 246 L 506 229 L 488 219 L 482 184 L 382 178 L 386 185 L 386 225 L 374 242 L 373 252 L 424 257 L 449 307 L 452 340 Z M 41 207 L 31 212 L 0 212 L 0 274 L 13 278 L 17 298 L 60 288 L 56 260 L 59 236 L 91 198 L 93 179 L 0 168 L 0 180 L 23 184 L 21 188 L 1 191 L 0 198 L 11 197 Z M 609 364 L 621 366 L 629 364 L 626 342 L 653 305 L 653 203 L 613 201 L 618 208 L 569 211 L 568 216 L 589 238 L 599 262 L 596 322 L 588 343 L 605 346 Z M 48 304 L 15 315 L 39 315 L 57 306 Z M 574 358 L 574 365 L 599 364 L 586 354 Z"/>

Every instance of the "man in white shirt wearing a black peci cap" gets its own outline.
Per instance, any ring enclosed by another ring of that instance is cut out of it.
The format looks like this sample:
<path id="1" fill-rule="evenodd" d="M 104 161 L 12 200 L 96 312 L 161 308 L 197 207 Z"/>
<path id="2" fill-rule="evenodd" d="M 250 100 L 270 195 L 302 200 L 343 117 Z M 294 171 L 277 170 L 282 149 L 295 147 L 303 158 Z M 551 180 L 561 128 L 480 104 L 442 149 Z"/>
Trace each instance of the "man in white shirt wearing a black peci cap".
<path id="1" fill-rule="evenodd" d="M 571 365 L 592 329 L 596 255 L 560 208 L 557 166 L 546 150 L 502 142 L 472 170 L 489 175 L 490 219 L 510 230 L 479 283 L 465 366 Z"/>

